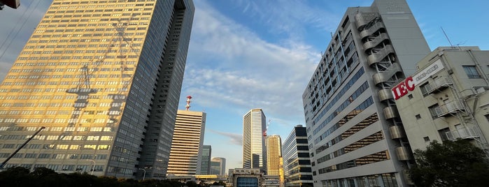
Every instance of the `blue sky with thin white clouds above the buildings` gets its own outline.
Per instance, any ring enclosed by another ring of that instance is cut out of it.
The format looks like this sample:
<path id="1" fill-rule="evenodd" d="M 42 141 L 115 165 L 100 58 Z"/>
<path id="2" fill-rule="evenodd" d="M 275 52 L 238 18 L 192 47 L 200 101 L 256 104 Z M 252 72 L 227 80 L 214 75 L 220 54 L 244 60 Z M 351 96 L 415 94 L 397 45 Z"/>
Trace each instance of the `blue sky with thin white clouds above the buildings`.
<path id="1" fill-rule="evenodd" d="M 489 50 L 489 1 L 407 0 L 431 50 L 453 45 Z M 305 125 L 302 93 L 348 7 L 372 0 L 194 0 L 195 15 L 179 109 L 207 114 L 204 144 L 241 167 L 243 115 L 262 108 L 268 134 L 282 141 Z M 21 0 L 0 10 L 0 81 L 50 1 Z M 226 169 L 226 170 L 227 170 Z"/>

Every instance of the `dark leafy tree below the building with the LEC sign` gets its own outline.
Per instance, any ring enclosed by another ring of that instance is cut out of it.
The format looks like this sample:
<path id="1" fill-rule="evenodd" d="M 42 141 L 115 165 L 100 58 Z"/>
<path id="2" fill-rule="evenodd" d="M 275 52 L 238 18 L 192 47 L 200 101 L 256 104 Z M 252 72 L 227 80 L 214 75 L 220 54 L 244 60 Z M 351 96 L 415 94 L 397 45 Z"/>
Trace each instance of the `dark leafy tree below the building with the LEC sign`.
<path id="1" fill-rule="evenodd" d="M 469 140 L 433 141 L 425 151 L 414 151 L 416 166 L 409 174 L 416 186 L 487 186 L 486 154 Z"/>

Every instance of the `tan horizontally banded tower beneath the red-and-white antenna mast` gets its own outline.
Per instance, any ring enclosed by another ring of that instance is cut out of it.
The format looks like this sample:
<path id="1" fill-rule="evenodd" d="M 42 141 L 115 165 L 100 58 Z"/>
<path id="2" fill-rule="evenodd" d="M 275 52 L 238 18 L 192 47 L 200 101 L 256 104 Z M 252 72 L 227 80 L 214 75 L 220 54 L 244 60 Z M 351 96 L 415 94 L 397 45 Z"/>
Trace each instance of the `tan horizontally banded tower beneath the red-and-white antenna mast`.
<path id="1" fill-rule="evenodd" d="M 206 113 L 178 110 L 167 174 L 189 175 L 201 170 Z"/>

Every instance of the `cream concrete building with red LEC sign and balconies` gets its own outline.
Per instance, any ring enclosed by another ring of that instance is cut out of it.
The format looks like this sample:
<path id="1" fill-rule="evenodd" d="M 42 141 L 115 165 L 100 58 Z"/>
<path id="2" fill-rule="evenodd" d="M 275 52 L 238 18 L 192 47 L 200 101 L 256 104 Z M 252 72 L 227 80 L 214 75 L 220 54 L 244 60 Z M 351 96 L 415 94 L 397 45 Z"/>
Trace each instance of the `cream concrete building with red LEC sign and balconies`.
<path id="1" fill-rule="evenodd" d="M 489 51 L 438 47 L 418 62 L 418 71 L 392 89 L 411 148 L 433 140 L 473 140 L 489 155 Z"/>

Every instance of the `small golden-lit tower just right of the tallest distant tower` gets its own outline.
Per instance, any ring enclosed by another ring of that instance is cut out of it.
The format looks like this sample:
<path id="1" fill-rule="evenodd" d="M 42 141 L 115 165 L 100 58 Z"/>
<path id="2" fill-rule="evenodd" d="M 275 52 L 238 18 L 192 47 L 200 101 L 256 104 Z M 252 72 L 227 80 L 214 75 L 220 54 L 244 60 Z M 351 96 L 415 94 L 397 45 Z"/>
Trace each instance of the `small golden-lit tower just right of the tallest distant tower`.
<path id="1" fill-rule="evenodd" d="M 279 135 L 267 136 L 267 174 L 279 175 L 281 169 L 282 140 Z"/>

